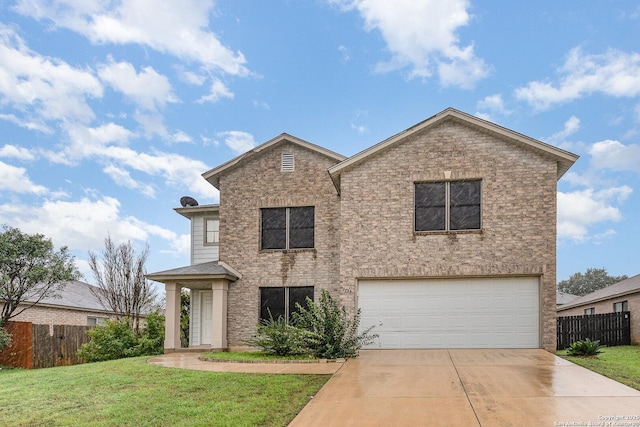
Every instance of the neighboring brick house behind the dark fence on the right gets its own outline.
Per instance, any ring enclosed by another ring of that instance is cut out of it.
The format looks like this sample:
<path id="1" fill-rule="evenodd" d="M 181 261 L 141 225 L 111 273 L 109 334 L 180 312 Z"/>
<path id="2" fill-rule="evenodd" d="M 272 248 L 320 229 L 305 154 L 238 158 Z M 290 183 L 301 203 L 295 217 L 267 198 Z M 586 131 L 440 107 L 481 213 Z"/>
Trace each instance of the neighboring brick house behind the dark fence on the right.
<path id="1" fill-rule="evenodd" d="M 631 344 L 640 345 L 640 274 L 558 307 L 558 317 L 631 312 Z"/>

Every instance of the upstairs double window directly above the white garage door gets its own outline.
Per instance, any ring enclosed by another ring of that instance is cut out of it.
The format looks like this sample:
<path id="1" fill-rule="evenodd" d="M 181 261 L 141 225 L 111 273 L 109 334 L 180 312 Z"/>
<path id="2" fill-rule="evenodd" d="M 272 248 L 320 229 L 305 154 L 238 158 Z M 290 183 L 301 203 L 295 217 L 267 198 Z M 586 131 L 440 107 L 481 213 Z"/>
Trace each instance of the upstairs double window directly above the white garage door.
<path id="1" fill-rule="evenodd" d="M 415 231 L 480 230 L 481 181 L 415 184 Z"/>

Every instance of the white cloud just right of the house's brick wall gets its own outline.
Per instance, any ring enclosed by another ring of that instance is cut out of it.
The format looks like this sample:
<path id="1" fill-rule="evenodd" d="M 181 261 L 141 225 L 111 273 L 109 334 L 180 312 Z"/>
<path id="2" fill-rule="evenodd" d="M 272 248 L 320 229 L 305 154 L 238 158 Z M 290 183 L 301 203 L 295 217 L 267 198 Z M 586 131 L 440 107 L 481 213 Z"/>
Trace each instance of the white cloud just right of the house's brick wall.
<path id="1" fill-rule="evenodd" d="M 558 192 L 558 238 L 584 241 L 589 237 L 589 227 L 619 221 L 622 214 L 613 203 L 622 203 L 632 192 L 626 185 L 600 191 Z"/>

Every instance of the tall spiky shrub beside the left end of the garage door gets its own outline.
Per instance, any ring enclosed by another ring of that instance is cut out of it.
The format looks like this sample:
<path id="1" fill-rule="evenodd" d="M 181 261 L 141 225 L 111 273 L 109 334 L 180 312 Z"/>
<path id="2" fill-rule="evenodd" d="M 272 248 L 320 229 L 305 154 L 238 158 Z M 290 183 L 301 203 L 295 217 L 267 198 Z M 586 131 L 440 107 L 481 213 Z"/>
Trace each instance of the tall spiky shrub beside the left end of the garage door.
<path id="1" fill-rule="evenodd" d="M 305 337 L 306 347 L 322 359 L 357 357 L 362 346 L 370 344 L 378 337 L 372 334 L 373 326 L 358 334 L 360 310 L 349 318 L 347 310 L 339 307 L 331 294 L 322 290 L 319 303 L 307 298 L 307 307 L 296 304 L 293 314 L 296 327 L 310 334 Z"/>

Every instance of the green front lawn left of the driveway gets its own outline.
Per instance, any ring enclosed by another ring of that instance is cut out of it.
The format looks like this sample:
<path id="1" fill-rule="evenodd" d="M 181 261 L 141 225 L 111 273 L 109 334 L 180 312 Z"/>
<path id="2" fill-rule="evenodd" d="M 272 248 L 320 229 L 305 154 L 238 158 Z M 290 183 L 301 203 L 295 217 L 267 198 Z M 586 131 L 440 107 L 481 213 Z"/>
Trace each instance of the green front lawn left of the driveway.
<path id="1" fill-rule="evenodd" d="M 0 425 L 285 426 L 329 379 L 163 368 L 147 359 L 0 370 Z"/>

